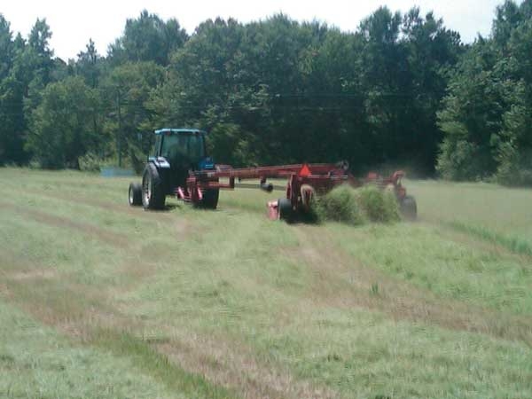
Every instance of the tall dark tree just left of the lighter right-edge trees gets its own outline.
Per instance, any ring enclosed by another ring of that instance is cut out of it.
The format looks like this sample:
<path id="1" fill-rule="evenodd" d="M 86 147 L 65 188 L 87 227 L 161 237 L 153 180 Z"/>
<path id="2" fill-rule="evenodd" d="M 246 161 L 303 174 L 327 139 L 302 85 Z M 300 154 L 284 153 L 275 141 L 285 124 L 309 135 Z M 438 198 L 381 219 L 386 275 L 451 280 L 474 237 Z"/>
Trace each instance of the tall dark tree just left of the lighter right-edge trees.
<path id="1" fill-rule="evenodd" d="M 443 20 L 436 19 L 432 12 L 422 17 L 419 8 L 404 15 L 401 30 L 409 82 L 403 85 L 405 111 L 400 121 L 399 156 L 410 158 L 426 172 L 434 172 L 442 141 L 436 112 L 464 48 L 457 32 L 444 27 Z"/>

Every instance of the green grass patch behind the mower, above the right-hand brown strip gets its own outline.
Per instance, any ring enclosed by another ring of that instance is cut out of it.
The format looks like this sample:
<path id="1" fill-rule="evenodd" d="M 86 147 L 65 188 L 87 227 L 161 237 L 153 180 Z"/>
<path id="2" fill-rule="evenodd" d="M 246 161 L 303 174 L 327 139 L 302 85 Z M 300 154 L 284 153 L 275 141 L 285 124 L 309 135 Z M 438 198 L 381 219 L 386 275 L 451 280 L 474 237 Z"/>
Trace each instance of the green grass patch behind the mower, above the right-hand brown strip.
<path id="1" fill-rule="evenodd" d="M 489 247 L 464 245 L 426 225 L 373 225 L 353 231 L 329 227 L 340 246 L 364 266 L 407 281 L 442 298 L 532 314 L 532 267 Z"/>

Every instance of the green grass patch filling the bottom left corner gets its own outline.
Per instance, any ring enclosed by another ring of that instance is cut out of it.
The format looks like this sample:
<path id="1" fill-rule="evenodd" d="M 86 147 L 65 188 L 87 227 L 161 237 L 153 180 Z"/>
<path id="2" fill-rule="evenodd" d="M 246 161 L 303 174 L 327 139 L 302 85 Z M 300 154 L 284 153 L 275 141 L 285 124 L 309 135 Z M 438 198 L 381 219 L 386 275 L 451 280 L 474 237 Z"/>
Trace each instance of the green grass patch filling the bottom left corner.
<path id="1" fill-rule="evenodd" d="M 75 344 L 0 301 L 1 397 L 191 397 L 142 372 L 136 360 Z"/>

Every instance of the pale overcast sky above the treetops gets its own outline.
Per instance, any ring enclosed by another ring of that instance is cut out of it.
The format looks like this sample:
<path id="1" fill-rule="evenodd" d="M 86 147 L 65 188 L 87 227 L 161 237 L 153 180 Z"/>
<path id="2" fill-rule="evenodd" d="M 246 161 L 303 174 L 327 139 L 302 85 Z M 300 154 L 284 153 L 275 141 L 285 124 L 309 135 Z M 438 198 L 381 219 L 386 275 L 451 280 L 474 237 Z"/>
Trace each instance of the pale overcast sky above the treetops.
<path id="1" fill-rule="evenodd" d="M 379 5 L 405 12 L 419 5 L 425 14 L 434 11 L 445 25 L 458 30 L 464 42 L 476 35 L 489 35 L 491 20 L 503 0 L 2 0 L 0 13 L 11 22 L 12 31 L 25 37 L 37 18 L 46 18 L 53 33 L 51 47 L 62 59 L 75 58 L 92 38 L 98 52 L 121 35 L 126 19 L 147 9 L 161 18 L 176 18 L 189 34 L 209 18 L 233 17 L 241 22 L 262 20 L 284 12 L 294 20 L 320 20 L 342 30 L 353 31 Z"/>

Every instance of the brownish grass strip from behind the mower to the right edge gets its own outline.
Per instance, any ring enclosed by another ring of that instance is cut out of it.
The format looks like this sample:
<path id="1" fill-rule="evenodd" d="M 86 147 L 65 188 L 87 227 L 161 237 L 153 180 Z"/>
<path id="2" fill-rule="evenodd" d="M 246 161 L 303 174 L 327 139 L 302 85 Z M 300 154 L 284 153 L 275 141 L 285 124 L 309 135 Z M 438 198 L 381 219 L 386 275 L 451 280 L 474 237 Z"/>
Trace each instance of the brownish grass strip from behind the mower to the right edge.
<path id="1" fill-rule="evenodd" d="M 450 330 L 478 332 L 505 340 L 520 340 L 532 347 L 532 324 L 528 317 L 508 315 L 473 304 L 442 299 L 406 281 L 389 278 L 349 256 L 324 230 L 299 226 L 300 242 L 295 262 L 304 262 L 315 273 L 309 309 L 316 306 L 378 310 L 396 321 L 439 325 Z M 309 302 L 309 303 L 307 303 Z"/>

